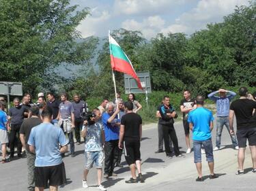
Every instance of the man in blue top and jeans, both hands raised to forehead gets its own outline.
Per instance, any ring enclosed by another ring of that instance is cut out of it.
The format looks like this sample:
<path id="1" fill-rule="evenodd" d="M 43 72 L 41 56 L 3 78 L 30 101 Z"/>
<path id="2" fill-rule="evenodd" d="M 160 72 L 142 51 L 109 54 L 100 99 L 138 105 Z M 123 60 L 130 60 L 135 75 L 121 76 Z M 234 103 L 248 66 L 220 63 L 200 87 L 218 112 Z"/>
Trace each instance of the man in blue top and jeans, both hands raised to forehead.
<path id="1" fill-rule="evenodd" d="M 216 95 L 217 93 L 218 96 Z M 217 109 L 216 147 L 214 148 L 214 151 L 219 150 L 221 147 L 221 133 L 223 132 L 224 125 L 227 128 L 227 132 L 229 132 L 234 149 L 238 150 L 238 141 L 236 140 L 236 135 L 231 135 L 229 128 L 229 103 L 235 96 L 235 92 L 224 89 L 219 89 L 218 91 L 208 94 L 208 97 L 216 102 Z"/>

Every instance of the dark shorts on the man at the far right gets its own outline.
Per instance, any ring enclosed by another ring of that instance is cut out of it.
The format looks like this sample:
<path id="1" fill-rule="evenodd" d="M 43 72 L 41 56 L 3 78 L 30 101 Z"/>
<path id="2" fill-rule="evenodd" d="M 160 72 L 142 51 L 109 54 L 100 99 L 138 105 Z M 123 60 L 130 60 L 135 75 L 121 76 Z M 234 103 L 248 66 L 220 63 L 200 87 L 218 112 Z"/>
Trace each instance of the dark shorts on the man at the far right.
<path id="1" fill-rule="evenodd" d="M 236 137 L 238 138 L 238 147 L 246 147 L 247 139 L 249 145 L 254 146 L 256 145 L 256 128 L 238 130 Z"/>

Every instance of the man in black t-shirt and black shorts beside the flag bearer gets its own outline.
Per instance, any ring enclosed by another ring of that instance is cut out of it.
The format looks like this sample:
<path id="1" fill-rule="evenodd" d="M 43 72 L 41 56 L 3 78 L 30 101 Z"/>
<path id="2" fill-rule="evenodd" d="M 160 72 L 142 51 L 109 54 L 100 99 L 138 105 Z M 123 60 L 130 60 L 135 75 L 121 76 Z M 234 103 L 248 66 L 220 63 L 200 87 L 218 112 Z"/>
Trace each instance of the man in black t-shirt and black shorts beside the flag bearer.
<path id="1" fill-rule="evenodd" d="M 126 183 L 137 183 L 136 168 L 139 172 L 139 180 L 143 182 L 141 175 L 141 134 L 142 134 L 142 120 L 141 116 L 133 113 L 133 104 L 128 101 L 124 104 L 126 114 L 121 119 L 121 126 L 119 131 L 119 149 L 124 147 L 124 156 L 126 162 L 129 164 L 132 177 Z M 123 145 L 124 140 L 124 145 Z"/>

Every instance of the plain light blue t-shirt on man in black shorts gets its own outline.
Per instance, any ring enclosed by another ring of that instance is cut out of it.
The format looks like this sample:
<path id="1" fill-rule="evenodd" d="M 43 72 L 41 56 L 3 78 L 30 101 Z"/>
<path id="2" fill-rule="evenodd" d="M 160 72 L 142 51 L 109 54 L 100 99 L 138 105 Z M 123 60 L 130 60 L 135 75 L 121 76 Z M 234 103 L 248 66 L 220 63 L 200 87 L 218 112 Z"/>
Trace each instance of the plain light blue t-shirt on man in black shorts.
<path id="1" fill-rule="evenodd" d="M 67 145 L 68 140 L 58 126 L 43 122 L 32 128 L 28 145 L 35 146 L 35 167 L 49 167 L 61 164 L 61 146 Z"/>

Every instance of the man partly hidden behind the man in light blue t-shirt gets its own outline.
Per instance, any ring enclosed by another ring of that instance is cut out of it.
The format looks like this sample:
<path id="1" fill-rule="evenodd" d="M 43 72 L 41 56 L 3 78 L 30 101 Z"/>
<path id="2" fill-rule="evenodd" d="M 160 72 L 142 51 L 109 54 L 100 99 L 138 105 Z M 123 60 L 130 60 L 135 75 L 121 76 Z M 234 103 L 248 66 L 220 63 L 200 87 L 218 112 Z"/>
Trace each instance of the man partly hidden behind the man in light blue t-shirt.
<path id="1" fill-rule="evenodd" d="M 34 181 L 34 169 L 35 169 L 35 154 L 29 151 L 29 145 L 27 145 L 27 141 L 29 140 L 29 135 L 31 129 L 34 126 L 38 126 L 42 123 L 39 115 L 39 108 L 36 105 L 31 106 L 31 118 L 23 121 L 23 124 L 20 126 L 20 141 L 23 144 L 23 147 L 26 148 L 27 154 L 27 183 L 28 190 L 35 189 L 35 181 Z"/>

